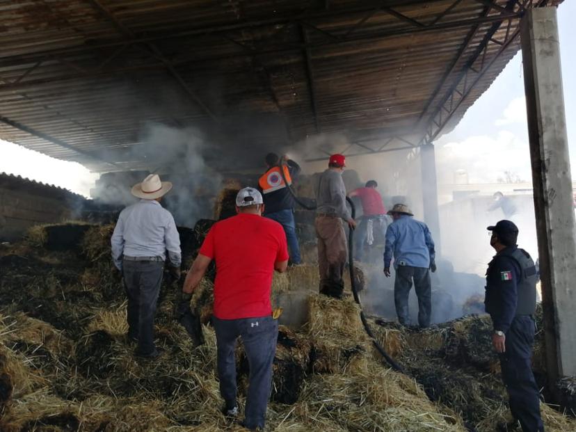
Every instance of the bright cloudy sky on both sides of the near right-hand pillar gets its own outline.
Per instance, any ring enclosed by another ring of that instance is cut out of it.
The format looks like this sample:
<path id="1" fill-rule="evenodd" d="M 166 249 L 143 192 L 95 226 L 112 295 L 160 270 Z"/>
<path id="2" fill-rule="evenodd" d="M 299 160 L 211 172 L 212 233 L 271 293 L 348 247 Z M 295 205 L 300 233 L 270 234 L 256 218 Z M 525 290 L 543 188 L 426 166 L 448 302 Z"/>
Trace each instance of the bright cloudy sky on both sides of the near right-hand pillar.
<path id="1" fill-rule="evenodd" d="M 570 161 L 576 164 L 576 1 L 558 9 L 560 56 Z M 522 54 L 518 52 L 502 74 L 470 107 L 454 131 L 435 143 L 439 184 L 454 182 L 454 170 L 466 170 L 470 183 L 495 183 L 504 172 L 531 182 Z M 576 180 L 576 168 L 573 168 Z"/>

